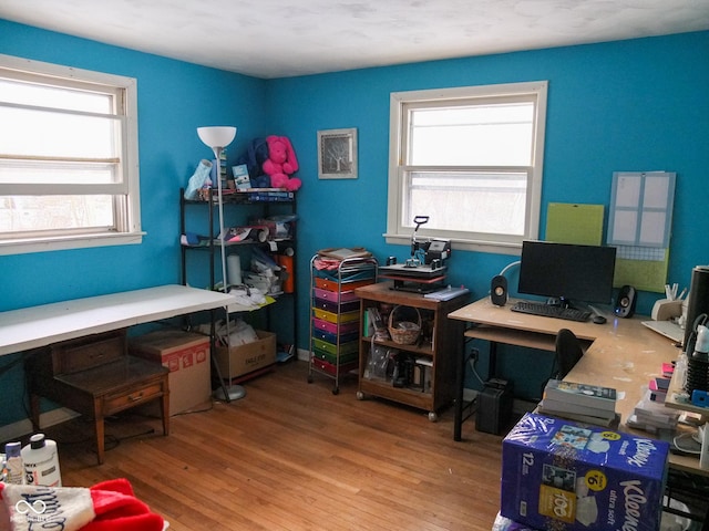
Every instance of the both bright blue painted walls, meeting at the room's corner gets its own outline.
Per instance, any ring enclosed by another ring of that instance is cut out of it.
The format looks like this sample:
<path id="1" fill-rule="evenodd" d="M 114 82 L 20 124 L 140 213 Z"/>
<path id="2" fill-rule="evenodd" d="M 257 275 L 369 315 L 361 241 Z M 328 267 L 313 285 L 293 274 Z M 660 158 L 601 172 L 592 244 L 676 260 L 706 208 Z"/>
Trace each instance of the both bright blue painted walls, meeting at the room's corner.
<path id="1" fill-rule="evenodd" d="M 239 127 L 229 157 L 249 138 L 288 135 L 298 154 L 298 290 L 326 247 L 388 246 L 389 94 L 397 91 L 548 80 L 543 201 L 608 205 L 613 171 L 677 171 L 669 280 L 687 285 L 709 263 L 709 32 L 436 61 L 264 81 L 99 44 L 0 20 L 0 53 L 138 80 L 143 244 L 0 257 L 0 311 L 179 281 L 177 189 L 209 153 L 199 125 Z M 317 131 L 357 127 L 359 178 L 317 178 Z M 545 217 L 541 235 L 544 235 Z M 456 252 L 450 280 L 475 296 L 514 257 Z M 121 267 L 116 267 L 121 264 Z M 126 273 L 130 271 L 130 273 Z M 514 284 L 514 281 L 512 282 Z M 648 313 L 657 293 L 641 293 Z M 308 300 L 299 301 L 307 347 Z M 512 357 L 512 356 L 511 356 Z M 0 361 L 11 363 L 13 356 Z M 525 365 L 525 357 L 520 364 Z M 527 367 L 522 367 L 524 371 Z M 514 372 L 514 367 L 503 371 Z M 10 376 L 13 375 L 13 376 Z M 10 385 L 6 385 L 10 381 Z M 0 402 L 18 403 L 21 372 L 0 376 Z M 0 408 L 0 425 L 24 418 Z"/>

